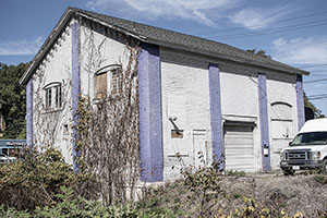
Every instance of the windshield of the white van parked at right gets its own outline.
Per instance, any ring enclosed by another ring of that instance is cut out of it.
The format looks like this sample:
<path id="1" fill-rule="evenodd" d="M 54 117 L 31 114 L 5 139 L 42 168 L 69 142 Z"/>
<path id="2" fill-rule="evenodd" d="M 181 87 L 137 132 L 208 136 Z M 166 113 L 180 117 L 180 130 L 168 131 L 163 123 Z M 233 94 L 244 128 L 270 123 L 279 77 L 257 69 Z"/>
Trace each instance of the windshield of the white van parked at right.
<path id="1" fill-rule="evenodd" d="M 298 134 L 290 146 L 299 145 L 326 145 L 327 132 L 311 132 Z"/>

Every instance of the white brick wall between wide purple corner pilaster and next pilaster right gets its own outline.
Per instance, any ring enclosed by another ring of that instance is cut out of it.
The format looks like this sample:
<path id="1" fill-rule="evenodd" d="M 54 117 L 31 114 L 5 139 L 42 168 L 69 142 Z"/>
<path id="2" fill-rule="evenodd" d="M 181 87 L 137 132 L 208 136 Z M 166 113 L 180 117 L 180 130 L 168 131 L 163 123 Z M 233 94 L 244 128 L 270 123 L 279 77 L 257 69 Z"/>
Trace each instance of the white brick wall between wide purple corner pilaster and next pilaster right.
<path id="1" fill-rule="evenodd" d="M 173 157 L 182 155 L 185 165 L 194 164 L 193 131 L 203 131 L 210 142 L 210 108 L 208 70 L 205 62 L 194 57 L 180 55 L 160 48 L 162 132 L 164 132 L 164 178 L 180 177 L 180 162 Z M 173 62 L 173 60 L 178 60 Z M 202 64 L 202 68 L 191 63 Z M 190 64 L 189 64 L 190 63 Z M 175 117 L 175 124 L 183 130 L 183 138 L 171 138 L 173 129 L 169 117 Z M 209 148 L 210 150 L 210 148 Z M 195 155 L 197 156 L 197 155 Z M 209 154 L 211 156 L 211 154 Z M 171 169 L 174 167 L 174 169 Z"/>

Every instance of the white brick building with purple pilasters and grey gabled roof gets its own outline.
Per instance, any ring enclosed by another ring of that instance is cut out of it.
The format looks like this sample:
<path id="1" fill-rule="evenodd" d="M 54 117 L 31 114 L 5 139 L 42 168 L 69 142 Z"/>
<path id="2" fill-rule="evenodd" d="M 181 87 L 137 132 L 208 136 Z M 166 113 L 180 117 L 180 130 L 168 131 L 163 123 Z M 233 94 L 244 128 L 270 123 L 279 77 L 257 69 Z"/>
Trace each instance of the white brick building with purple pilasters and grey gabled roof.
<path id="1" fill-rule="evenodd" d="M 142 181 L 179 177 L 171 169 L 175 153 L 195 166 L 203 152 L 208 161 L 225 159 L 227 170 L 278 169 L 279 150 L 304 122 L 302 75 L 308 72 L 225 44 L 73 8 L 21 78 L 27 85 L 29 145 L 55 144 L 72 164 L 72 110 L 80 96 L 114 92 L 114 72 L 125 68 L 130 40 L 141 46 Z M 101 61 L 90 56 L 90 44 Z M 45 116 L 56 123 L 46 134 L 39 132 L 47 131 L 48 123 L 40 122 Z"/>

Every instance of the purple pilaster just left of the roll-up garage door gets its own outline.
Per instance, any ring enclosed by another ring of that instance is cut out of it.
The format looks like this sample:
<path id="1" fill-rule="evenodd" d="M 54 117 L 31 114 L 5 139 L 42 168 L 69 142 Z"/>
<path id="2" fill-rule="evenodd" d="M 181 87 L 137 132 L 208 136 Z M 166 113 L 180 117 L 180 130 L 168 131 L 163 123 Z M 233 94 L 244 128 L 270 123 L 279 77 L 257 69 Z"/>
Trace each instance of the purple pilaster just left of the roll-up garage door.
<path id="1" fill-rule="evenodd" d="M 221 162 L 220 169 L 223 169 L 223 147 L 222 147 L 222 125 L 221 125 L 221 104 L 220 104 L 220 75 L 219 66 L 216 63 L 209 63 L 209 95 L 210 95 L 210 125 L 211 125 L 211 145 L 214 160 Z"/>

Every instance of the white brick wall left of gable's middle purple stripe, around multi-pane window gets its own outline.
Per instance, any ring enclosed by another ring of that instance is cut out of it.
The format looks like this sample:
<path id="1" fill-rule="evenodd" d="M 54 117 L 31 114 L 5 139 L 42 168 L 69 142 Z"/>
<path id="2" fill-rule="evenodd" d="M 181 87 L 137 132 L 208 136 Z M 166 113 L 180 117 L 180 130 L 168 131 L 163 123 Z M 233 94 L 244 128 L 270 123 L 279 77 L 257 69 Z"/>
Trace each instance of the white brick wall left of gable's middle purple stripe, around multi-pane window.
<path id="1" fill-rule="evenodd" d="M 65 95 L 62 95 L 62 100 L 66 101 L 65 107 L 61 108 L 57 113 L 59 114 L 58 120 L 53 120 L 53 125 L 56 125 L 56 138 L 55 138 L 55 146 L 62 152 L 62 155 L 66 162 L 72 164 L 72 142 L 70 134 L 63 135 L 63 126 L 64 124 L 69 125 L 70 128 L 70 119 L 72 118 L 71 112 L 71 50 L 72 50 L 72 40 L 71 40 L 71 28 L 68 26 L 65 31 L 61 34 L 59 39 L 56 41 L 56 46 L 51 48 L 51 51 L 46 56 L 46 59 L 43 61 L 43 64 L 37 69 L 37 72 L 43 76 L 40 81 L 39 76 L 34 74 L 33 76 L 33 96 L 34 96 L 34 113 L 33 113 L 33 131 L 34 131 L 34 138 L 37 138 L 37 147 L 41 146 L 49 146 L 48 144 L 41 144 L 41 142 L 47 141 L 49 135 L 44 133 L 44 130 L 39 130 L 36 126 L 37 118 L 36 116 L 46 116 L 45 113 L 45 90 L 43 89 L 47 84 L 52 82 L 60 82 L 66 83 L 68 89 Z M 39 88 L 39 89 L 38 89 Z M 43 97 L 43 105 L 36 105 L 36 92 Z M 55 104 L 55 93 L 52 90 L 52 105 Z M 36 110 L 37 107 L 40 108 L 41 113 L 37 114 Z M 70 131 L 71 132 L 71 131 Z M 49 138 L 48 138 L 49 140 Z M 34 140 L 35 141 L 35 140 Z"/>

